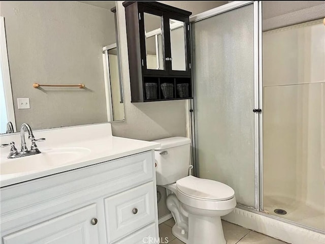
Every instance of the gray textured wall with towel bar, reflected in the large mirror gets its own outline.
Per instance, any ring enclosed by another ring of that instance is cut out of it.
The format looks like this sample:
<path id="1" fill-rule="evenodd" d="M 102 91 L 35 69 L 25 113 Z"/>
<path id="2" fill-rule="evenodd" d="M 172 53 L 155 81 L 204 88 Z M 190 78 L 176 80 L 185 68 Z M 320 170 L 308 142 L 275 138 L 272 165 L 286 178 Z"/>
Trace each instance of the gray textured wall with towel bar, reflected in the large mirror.
<path id="1" fill-rule="evenodd" d="M 47 129 L 107 121 L 102 48 L 115 43 L 114 14 L 79 2 L 1 2 L 16 124 Z M 32 83 L 78 84 L 35 89 Z M 30 98 L 30 109 L 17 109 Z"/>

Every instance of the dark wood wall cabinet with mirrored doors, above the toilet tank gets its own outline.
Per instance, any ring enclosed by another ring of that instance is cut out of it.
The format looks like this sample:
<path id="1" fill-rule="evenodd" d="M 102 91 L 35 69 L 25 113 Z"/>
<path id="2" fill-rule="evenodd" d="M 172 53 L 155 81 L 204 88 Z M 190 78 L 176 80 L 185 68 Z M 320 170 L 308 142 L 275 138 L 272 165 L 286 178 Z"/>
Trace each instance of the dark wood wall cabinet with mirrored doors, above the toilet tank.
<path id="1" fill-rule="evenodd" d="M 189 16 L 158 2 L 123 2 L 131 102 L 192 98 Z"/>

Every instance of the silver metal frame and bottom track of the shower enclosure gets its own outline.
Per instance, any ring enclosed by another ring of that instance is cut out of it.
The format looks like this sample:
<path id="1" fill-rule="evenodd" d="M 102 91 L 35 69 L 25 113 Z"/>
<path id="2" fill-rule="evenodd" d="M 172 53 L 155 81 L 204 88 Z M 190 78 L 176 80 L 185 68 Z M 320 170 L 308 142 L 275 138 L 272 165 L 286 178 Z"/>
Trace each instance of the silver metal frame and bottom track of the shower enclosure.
<path id="1" fill-rule="evenodd" d="M 229 4 L 222 5 L 220 7 L 217 7 L 212 10 L 208 10 L 202 14 L 194 15 L 189 18 L 190 25 L 193 22 L 197 22 L 209 17 L 213 17 L 215 15 L 225 13 L 228 11 L 232 11 L 234 9 L 244 7 L 249 4 L 253 4 L 253 12 L 254 12 L 254 108 L 261 108 L 263 107 L 263 80 L 262 80 L 262 2 L 263 1 L 236 1 L 231 2 Z M 190 27 L 190 42 L 191 47 L 192 45 L 192 33 L 191 33 L 191 27 Z M 193 58 L 193 57 L 191 57 Z M 193 59 L 191 60 L 191 63 L 193 64 Z M 193 72 L 193 70 L 192 70 Z M 193 74 L 192 74 L 192 77 Z M 193 97 L 195 96 L 196 90 L 194 89 L 194 86 L 192 88 Z M 192 164 L 194 166 L 194 175 L 197 173 L 197 155 L 196 155 L 196 124 L 195 124 L 195 116 L 193 113 L 194 109 L 194 99 L 187 100 L 186 104 L 186 111 L 188 113 L 187 119 L 190 120 L 190 123 L 187 126 L 188 133 L 187 135 L 191 137 L 192 140 Z M 302 225 L 300 223 L 290 221 L 283 219 L 281 217 L 277 217 L 274 215 L 269 215 L 267 212 L 263 209 L 263 111 L 261 113 L 254 113 L 254 165 L 255 165 L 255 201 L 254 201 L 254 207 L 251 206 L 245 206 L 242 204 L 237 204 L 237 208 L 247 210 L 250 212 L 254 212 L 255 214 L 262 215 L 277 221 L 281 221 L 287 224 L 291 224 L 297 227 L 301 227 L 307 230 L 311 230 L 317 233 L 325 234 L 325 231 L 309 227 L 306 225 Z"/>

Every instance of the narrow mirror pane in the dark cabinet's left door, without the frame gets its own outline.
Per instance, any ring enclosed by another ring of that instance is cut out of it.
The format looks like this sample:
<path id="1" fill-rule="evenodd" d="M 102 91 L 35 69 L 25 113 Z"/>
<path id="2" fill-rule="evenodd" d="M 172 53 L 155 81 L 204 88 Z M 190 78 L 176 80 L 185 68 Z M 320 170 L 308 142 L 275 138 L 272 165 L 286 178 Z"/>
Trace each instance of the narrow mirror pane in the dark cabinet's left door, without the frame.
<path id="1" fill-rule="evenodd" d="M 147 69 L 164 70 L 161 16 L 144 13 Z"/>

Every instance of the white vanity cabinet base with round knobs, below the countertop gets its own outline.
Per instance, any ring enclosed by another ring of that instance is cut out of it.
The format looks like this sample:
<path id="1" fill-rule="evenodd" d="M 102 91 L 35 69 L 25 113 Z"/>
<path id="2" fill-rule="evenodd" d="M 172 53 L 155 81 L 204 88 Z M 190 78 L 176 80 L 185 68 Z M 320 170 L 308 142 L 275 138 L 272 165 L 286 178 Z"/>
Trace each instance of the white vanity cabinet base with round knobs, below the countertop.
<path id="1" fill-rule="evenodd" d="M 150 150 L 1 188 L 1 244 L 158 240 L 153 165 Z"/>

